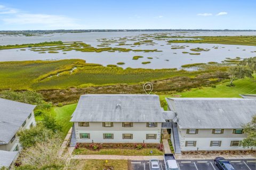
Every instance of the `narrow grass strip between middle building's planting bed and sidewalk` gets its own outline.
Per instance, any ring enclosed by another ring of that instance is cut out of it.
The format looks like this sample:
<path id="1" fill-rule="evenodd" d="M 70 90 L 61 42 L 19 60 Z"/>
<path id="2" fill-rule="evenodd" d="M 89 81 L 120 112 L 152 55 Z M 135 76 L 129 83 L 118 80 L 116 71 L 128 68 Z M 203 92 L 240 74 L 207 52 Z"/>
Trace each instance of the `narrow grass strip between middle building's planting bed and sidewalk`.
<path id="1" fill-rule="evenodd" d="M 153 154 L 150 151 L 153 150 Z M 150 156 L 150 155 L 163 155 L 163 152 L 158 149 L 100 149 L 93 151 L 85 148 L 75 149 L 74 155 L 127 155 L 127 156 Z"/>

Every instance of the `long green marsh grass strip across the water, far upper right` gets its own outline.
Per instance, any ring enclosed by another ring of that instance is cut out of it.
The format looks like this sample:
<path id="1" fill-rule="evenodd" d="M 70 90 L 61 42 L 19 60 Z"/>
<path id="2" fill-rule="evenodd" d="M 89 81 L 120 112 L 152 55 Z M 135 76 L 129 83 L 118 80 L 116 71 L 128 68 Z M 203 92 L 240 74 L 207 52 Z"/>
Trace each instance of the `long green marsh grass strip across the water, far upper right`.
<path id="1" fill-rule="evenodd" d="M 172 37 L 173 38 L 173 37 Z M 178 37 L 195 38 L 195 40 L 169 40 L 169 43 L 210 43 L 256 46 L 256 36 L 202 36 L 202 37 Z"/>

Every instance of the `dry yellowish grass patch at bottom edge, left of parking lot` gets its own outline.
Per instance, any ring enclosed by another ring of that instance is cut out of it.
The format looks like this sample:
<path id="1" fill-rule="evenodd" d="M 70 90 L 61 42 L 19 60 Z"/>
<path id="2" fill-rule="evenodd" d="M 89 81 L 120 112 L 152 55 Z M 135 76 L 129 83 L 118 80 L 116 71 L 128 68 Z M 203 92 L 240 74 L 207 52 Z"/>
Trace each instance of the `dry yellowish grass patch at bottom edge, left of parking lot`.
<path id="1" fill-rule="evenodd" d="M 106 166 L 114 166 L 115 170 L 127 170 L 128 163 L 127 160 L 97 160 L 97 159 L 82 159 L 82 160 L 71 160 L 78 162 L 78 168 L 81 170 L 102 170 Z"/>

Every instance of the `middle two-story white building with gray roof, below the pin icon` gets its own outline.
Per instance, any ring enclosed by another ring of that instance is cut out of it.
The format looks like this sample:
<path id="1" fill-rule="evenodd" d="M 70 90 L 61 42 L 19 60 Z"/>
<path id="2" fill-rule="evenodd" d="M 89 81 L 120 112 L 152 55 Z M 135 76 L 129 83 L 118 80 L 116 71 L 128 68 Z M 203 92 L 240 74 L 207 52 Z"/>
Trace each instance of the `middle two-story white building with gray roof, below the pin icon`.
<path id="1" fill-rule="evenodd" d="M 71 145 L 159 143 L 165 122 L 157 95 L 82 95 L 71 122 Z"/>

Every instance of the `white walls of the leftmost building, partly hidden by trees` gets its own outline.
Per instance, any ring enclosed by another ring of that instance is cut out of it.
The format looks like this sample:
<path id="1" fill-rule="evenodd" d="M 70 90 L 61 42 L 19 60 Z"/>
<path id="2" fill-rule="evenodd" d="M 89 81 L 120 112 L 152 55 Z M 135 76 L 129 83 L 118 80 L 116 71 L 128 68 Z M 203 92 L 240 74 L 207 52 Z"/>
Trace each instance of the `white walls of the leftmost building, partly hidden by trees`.
<path id="1" fill-rule="evenodd" d="M 35 116 L 34 116 L 34 112 L 31 113 L 31 117 L 26 119 L 26 124 L 22 127 L 20 127 L 20 129 L 29 129 L 30 125 L 33 124 L 33 126 L 36 125 L 36 121 L 35 121 Z M 19 143 L 19 139 L 16 136 L 16 138 L 14 139 L 13 142 L 9 142 L 8 144 L 5 145 L 0 145 L 0 150 L 6 150 L 6 151 L 13 151 L 17 145 L 19 145 L 19 149 L 21 149 L 21 145 Z"/>

